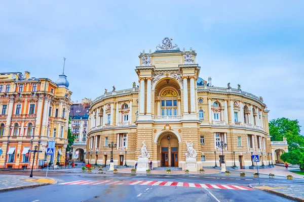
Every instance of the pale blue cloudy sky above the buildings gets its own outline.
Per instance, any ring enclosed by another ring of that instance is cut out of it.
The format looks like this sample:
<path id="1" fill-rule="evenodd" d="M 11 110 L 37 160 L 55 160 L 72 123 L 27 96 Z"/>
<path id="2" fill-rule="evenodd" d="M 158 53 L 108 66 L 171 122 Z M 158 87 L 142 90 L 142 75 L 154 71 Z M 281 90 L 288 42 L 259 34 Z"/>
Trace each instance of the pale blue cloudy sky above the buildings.
<path id="1" fill-rule="evenodd" d="M 304 125 L 304 1 L 1 1 L 0 72 L 56 81 L 72 100 L 138 83 L 138 55 L 164 37 L 196 50 L 200 77 L 262 96 Z M 302 127 L 302 134 L 304 128 Z"/>

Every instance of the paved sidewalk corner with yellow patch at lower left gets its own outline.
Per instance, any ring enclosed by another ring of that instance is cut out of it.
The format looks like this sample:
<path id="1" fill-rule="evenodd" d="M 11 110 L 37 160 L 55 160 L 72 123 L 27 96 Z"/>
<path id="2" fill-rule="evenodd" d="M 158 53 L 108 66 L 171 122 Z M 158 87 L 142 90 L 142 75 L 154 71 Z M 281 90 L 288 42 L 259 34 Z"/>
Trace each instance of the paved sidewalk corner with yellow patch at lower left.
<path id="1" fill-rule="evenodd" d="M 32 188 L 56 183 L 56 180 L 24 175 L 0 175 L 0 192 Z"/>

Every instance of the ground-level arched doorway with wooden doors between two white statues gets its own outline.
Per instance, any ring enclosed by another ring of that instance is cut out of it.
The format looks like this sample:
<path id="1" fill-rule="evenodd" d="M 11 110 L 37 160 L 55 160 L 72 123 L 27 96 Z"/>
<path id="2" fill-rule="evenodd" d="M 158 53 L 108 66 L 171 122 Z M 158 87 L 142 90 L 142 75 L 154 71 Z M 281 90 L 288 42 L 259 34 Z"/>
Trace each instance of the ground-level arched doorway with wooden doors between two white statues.
<path id="1" fill-rule="evenodd" d="M 164 132 L 157 140 L 157 156 L 160 167 L 178 167 L 178 138 L 172 132 Z"/>

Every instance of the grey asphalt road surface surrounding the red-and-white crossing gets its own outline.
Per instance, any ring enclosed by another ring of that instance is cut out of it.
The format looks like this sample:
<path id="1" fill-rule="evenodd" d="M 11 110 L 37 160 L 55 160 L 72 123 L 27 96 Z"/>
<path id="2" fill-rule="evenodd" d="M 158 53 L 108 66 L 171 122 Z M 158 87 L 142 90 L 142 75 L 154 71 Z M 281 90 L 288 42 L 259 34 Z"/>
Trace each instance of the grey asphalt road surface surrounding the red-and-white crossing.
<path id="1" fill-rule="evenodd" d="M 2 172 L 4 173 L 4 172 Z M 27 172 L 10 172 L 24 175 Z M 29 173 L 28 173 L 29 174 Z M 45 173 L 36 172 L 34 176 Z M 51 201 L 291 201 L 260 190 L 230 190 L 179 186 L 150 185 L 69 185 L 60 184 L 79 180 L 135 181 L 155 180 L 188 183 L 242 185 L 247 187 L 252 180 L 235 180 L 219 176 L 147 176 L 128 174 L 50 173 L 58 183 L 32 189 L 0 193 L 0 201 L 51 202 Z M 223 178 L 223 179 L 222 179 Z M 272 181 L 269 183 L 280 183 Z"/>

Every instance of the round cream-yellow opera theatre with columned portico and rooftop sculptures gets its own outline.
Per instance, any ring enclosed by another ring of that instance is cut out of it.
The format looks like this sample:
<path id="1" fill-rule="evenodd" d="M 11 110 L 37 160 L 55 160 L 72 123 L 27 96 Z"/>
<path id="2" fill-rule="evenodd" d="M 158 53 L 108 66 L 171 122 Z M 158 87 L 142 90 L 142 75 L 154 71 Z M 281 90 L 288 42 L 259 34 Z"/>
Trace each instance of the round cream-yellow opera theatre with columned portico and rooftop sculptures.
<path id="1" fill-rule="evenodd" d="M 185 169 L 187 142 L 196 150 L 195 169 L 221 166 L 249 168 L 251 153 L 271 153 L 268 113 L 261 97 L 238 88 L 215 87 L 199 77 L 196 52 L 182 51 L 169 38 L 158 50 L 139 56 L 139 87 L 105 92 L 90 107 L 86 161 L 109 164 L 113 142 L 115 165 L 134 165 L 142 141 L 153 167 Z M 125 150 L 127 151 L 127 157 Z M 262 158 L 260 158 L 262 159 Z M 258 163 L 261 165 L 262 163 Z"/>

